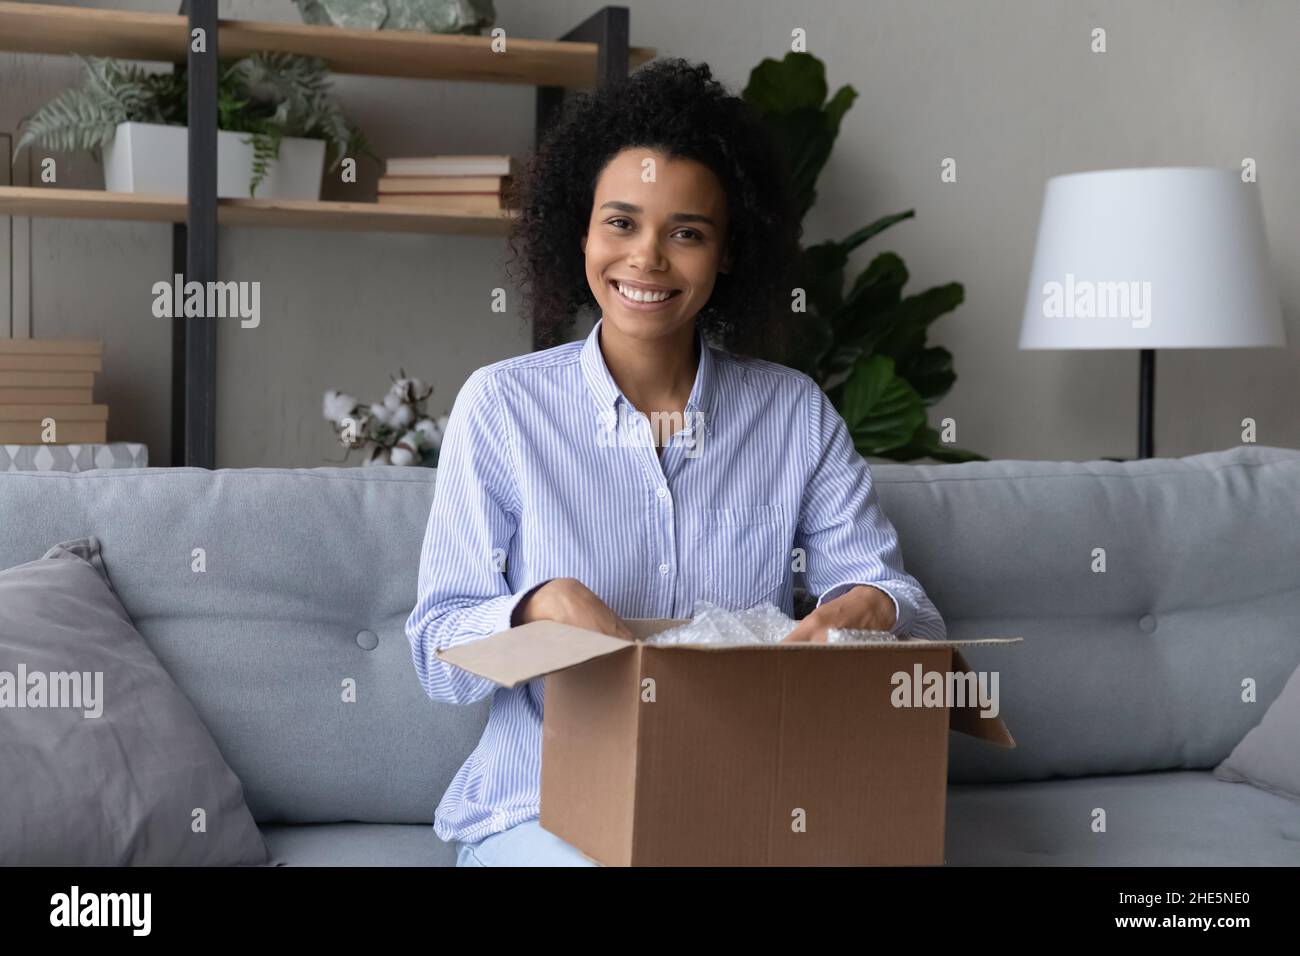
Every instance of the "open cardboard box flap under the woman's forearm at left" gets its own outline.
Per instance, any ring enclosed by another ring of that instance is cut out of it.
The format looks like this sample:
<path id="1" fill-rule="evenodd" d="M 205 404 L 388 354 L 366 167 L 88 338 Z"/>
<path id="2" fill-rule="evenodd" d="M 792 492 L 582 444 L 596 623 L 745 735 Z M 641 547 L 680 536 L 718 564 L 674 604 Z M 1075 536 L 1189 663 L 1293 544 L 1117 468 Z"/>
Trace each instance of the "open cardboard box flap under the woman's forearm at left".
<path id="1" fill-rule="evenodd" d="M 632 646 L 636 645 L 630 641 L 598 631 L 562 624 L 558 620 L 533 620 L 467 644 L 445 648 L 437 652 L 437 657 L 503 687 L 515 687 L 533 678 Z"/>

